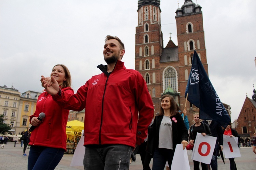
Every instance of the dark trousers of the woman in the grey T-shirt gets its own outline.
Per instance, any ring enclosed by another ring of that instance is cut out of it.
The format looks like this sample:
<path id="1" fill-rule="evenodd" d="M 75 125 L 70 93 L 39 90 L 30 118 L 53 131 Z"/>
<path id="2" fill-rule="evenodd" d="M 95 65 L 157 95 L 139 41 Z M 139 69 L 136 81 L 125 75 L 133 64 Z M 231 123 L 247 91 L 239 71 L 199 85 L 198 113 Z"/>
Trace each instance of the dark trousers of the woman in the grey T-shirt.
<path id="1" fill-rule="evenodd" d="M 174 151 L 171 149 L 165 148 L 156 148 L 153 158 L 153 167 L 152 170 L 165 169 L 166 161 L 169 164 L 169 168 L 172 166 Z"/>

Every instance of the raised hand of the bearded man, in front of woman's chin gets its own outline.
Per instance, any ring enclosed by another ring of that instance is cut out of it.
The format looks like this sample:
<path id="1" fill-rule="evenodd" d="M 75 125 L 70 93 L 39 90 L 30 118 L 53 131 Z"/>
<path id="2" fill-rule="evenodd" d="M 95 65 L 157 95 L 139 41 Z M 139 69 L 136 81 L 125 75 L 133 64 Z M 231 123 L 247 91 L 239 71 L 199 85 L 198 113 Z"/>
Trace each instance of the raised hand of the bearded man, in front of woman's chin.
<path id="1" fill-rule="evenodd" d="M 45 78 L 42 75 L 40 81 L 42 83 L 42 86 L 50 95 L 54 96 L 59 92 L 59 84 L 53 76 Z"/>

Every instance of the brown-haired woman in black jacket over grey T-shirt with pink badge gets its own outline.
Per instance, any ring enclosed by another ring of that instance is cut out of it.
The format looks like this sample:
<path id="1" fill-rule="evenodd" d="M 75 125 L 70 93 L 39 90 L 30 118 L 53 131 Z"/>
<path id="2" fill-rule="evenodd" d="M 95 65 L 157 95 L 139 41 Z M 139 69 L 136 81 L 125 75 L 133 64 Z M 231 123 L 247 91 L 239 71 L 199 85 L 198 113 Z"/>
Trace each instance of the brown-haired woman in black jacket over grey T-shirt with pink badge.
<path id="1" fill-rule="evenodd" d="M 160 113 L 154 120 L 154 126 L 156 134 L 152 169 L 164 169 L 166 161 L 171 169 L 176 145 L 182 143 L 183 149 L 188 145 L 187 128 L 171 95 L 162 96 Z"/>

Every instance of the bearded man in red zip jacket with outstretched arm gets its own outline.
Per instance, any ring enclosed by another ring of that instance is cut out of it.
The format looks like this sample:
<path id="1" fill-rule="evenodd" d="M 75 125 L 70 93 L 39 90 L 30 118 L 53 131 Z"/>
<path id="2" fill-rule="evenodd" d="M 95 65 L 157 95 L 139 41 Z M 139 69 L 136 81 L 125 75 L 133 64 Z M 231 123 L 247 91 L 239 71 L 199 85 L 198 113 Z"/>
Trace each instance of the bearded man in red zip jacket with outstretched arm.
<path id="1" fill-rule="evenodd" d="M 124 44 L 106 36 L 103 55 L 107 65 L 74 95 L 61 91 L 53 77 L 42 78 L 42 86 L 66 109 L 85 109 L 84 168 L 129 169 L 132 150 L 147 136 L 154 106 L 142 75 L 121 62 Z"/>

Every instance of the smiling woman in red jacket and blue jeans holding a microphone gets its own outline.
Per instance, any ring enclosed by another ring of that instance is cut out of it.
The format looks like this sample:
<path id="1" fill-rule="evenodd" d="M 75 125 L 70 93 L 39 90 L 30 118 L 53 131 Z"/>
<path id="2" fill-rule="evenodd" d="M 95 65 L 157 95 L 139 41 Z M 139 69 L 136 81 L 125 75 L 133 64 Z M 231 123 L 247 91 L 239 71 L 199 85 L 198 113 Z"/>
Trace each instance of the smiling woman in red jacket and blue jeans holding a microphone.
<path id="1" fill-rule="evenodd" d="M 71 75 L 66 66 L 54 66 L 51 77 L 58 82 L 62 91 L 74 94 L 70 87 Z M 37 118 L 42 112 L 45 113 L 45 118 L 40 121 Z M 58 165 L 66 151 L 68 115 L 69 110 L 57 104 L 46 91 L 38 97 L 36 111 L 30 116 L 31 125 L 37 127 L 30 136 L 28 170 L 54 169 Z"/>

